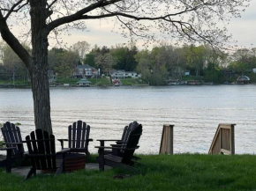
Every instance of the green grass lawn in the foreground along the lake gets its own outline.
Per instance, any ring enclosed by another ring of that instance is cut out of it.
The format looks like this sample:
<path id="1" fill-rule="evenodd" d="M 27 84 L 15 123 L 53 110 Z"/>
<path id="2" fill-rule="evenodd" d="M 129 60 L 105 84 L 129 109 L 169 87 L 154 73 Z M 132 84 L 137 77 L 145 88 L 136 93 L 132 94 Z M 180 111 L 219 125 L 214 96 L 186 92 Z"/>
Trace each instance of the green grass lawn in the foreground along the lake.
<path id="1" fill-rule="evenodd" d="M 174 155 L 141 156 L 139 173 L 113 179 L 120 173 L 78 171 L 52 178 L 40 175 L 21 182 L 23 177 L 0 173 L 0 190 L 255 190 L 256 156 Z"/>

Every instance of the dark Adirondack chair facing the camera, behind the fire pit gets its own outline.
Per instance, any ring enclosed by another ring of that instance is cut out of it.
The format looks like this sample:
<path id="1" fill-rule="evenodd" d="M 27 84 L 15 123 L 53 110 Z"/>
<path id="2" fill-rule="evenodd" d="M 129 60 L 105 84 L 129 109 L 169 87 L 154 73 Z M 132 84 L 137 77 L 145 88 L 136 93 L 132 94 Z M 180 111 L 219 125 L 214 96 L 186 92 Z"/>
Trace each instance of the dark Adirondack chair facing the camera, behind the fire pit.
<path id="1" fill-rule="evenodd" d="M 68 139 L 58 139 L 62 149 L 64 149 L 64 141 L 66 141 L 71 152 L 85 152 L 87 158 L 89 158 L 90 152 L 88 151 L 88 145 L 90 141 L 93 141 L 93 139 L 89 138 L 90 129 L 91 127 L 86 122 L 73 122 L 68 128 Z"/>

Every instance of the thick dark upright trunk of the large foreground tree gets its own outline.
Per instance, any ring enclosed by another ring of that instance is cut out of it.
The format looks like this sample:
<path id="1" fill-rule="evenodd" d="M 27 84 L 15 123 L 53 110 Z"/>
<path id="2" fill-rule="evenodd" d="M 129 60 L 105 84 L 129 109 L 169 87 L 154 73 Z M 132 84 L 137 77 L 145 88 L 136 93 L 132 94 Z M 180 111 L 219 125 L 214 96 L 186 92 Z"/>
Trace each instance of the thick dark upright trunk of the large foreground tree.
<path id="1" fill-rule="evenodd" d="M 32 31 L 31 82 L 34 99 L 34 123 L 36 129 L 52 134 L 48 81 L 48 33 L 46 26 L 46 0 L 30 0 Z"/>

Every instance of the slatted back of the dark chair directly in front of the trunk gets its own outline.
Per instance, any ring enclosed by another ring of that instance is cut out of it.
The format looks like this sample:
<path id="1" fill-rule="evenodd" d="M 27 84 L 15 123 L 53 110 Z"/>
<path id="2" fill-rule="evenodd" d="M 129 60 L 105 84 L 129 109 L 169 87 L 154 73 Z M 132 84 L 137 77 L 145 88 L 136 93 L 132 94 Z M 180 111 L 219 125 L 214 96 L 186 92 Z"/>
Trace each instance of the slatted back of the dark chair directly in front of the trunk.
<path id="1" fill-rule="evenodd" d="M 47 170 L 56 168 L 55 136 L 47 131 L 36 129 L 26 136 L 26 145 L 34 169 Z"/>

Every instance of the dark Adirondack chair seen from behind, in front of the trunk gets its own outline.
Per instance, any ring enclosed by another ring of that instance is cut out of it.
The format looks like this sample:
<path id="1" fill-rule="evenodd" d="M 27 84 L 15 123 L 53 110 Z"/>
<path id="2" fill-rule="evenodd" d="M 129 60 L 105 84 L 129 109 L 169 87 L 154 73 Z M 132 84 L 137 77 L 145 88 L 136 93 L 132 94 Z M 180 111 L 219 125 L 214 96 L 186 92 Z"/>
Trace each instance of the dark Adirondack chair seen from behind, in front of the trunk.
<path id="1" fill-rule="evenodd" d="M 56 153 L 55 136 L 50 135 L 47 131 L 36 129 L 26 136 L 28 155 L 31 159 L 32 168 L 27 173 L 25 180 L 29 179 L 33 174 L 36 175 L 36 170 L 56 170 L 55 174 L 65 171 L 64 158 L 66 152 L 70 149 L 65 149 Z M 56 165 L 56 155 L 62 155 L 62 161 L 59 166 Z"/>

